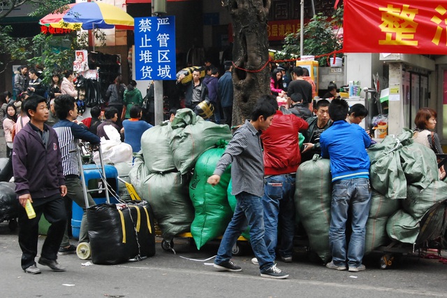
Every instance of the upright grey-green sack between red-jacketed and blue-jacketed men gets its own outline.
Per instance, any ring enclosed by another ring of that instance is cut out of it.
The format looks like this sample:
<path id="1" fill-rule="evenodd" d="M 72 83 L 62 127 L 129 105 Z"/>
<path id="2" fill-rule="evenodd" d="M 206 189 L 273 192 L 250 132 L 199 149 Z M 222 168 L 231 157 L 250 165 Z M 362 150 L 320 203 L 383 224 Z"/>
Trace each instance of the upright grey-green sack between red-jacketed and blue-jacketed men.
<path id="1" fill-rule="evenodd" d="M 296 171 L 295 208 L 309 237 L 310 248 L 329 262 L 330 204 L 332 183 L 329 159 L 314 155 Z"/>

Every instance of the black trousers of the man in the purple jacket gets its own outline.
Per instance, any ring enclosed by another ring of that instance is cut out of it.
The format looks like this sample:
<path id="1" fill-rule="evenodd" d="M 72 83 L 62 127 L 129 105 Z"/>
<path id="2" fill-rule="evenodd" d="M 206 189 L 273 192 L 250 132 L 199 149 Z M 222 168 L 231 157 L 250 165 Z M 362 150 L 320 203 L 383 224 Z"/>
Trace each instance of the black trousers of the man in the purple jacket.
<path id="1" fill-rule="evenodd" d="M 64 236 L 66 213 L 64 199 L 60 194 L 47 198 L 34 198 L 33 207 L 36 217 L 29 219 L 24 208 L 19 208 L 19 245 L 22 249 L 22 269 L 36 264 L 39 220 L 42 214 L 50 222 L 47 238 L 42 246 L 41 256 L 48 260 L 57 260 L 57 251 Z"/>

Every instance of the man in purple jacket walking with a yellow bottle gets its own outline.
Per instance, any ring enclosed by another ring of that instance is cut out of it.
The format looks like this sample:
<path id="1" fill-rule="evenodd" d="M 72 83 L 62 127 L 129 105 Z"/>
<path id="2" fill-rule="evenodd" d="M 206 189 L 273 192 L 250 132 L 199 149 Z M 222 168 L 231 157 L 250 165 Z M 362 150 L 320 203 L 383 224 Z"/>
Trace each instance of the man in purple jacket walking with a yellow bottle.
<path id="1" fill-rule="evenodd" d="M 34 258 L 37 255 L 38 223 L 43 213 L 51 225 L 38 263 L 53 271 L 65 271 L 57 262 L 57 250 L 66 226 L 62 197 L 67 193 L 57 134 L 45 125 L 48 108 L 43 97 L 32 95 L 22 108 L 31 120 L 14 139 L 15 192 L 22 206 L 30 200 L 36 212 L 36 217 L 29 219 L 24 208 L 19 210 L 22 269 L 29 274 L 41 273 Z"/>

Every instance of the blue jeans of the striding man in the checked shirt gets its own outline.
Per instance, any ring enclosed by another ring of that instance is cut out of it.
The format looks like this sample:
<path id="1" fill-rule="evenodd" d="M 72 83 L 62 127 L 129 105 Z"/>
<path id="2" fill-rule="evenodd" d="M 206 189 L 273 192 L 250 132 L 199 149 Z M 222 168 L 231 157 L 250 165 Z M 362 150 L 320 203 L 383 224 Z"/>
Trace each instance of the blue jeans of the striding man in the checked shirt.
<path id="1" fill-rule="evenodd" d="M 274 260 L 268 253 L 264 241 L 262 198 L 247 192 L 241 192 L 236 194 L 236 199 L 235 213 L 223 234 L 214 264 L 221 264 L 230 260 L 231 248 L 235 245 L 242 231 L 246 229 L 248 222 L 251 248 L 258 259 L 259 269 L 263 272 L 273 266 Z"/>

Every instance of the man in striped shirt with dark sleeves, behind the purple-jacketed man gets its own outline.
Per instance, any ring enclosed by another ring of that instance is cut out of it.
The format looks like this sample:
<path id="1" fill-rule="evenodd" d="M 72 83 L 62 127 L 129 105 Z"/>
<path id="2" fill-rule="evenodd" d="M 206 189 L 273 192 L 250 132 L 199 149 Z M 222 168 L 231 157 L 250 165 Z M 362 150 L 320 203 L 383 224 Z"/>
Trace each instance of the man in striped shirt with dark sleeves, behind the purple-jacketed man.
<path id="1" fill-rule="evenodd" d="M 100 143 L 100 139 L 92 134 L 82 125 L 73 122 L 78 118 L 78 105 L 74 97 L 68 94 L 59 95 L 54 99 L 54 110 L 60 119 L 53 128 L 59 138 L 59 147 L 61 148 L 62 167 L 64 168 L 64 176 L 67 186 L 67 197 L 75 201 L 81 208 L 85 209 L 84 192 L 82 191 L 82 182 L 79 178 L 80 169 L 78 154 L 78 140 L 82 139 L 92 144 Z M 82 170 L 82 169 L 81 169 Z M 95 205 L 90 194 L 87 193 L 89 206 Z M 70 203 L 71 203 L 70 200 Z M 88 242 L 87 214 L 84 211 L 82 215 L 81 227 L 79 232 L 79 242 Z M 70 244 L 67 231 L 64 234 L 59 255 L 75 253 L 76 247 Z"/>

